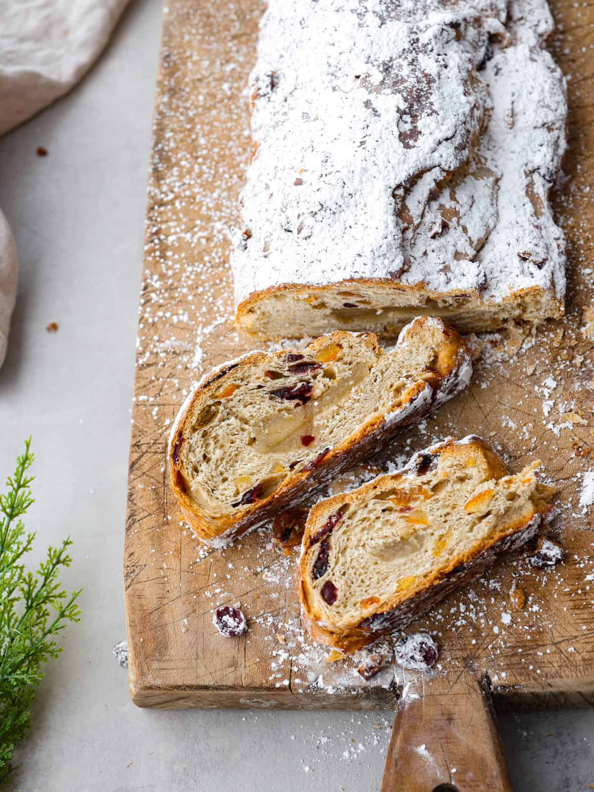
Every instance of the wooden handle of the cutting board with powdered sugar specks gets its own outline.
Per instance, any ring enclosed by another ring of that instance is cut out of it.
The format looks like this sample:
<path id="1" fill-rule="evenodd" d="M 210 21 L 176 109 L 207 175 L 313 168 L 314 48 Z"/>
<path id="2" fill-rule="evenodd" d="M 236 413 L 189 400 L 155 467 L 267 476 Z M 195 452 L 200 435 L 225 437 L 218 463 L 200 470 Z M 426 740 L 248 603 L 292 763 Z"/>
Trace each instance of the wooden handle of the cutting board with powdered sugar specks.
<path id="1" fill-rule="evenodd" d="M 491 790 L 513 787 L 493 706 L 476 676 L 466 670 L 436 673 L 424 676 L 414 692 L 405 687 L 381 792 Z"/>

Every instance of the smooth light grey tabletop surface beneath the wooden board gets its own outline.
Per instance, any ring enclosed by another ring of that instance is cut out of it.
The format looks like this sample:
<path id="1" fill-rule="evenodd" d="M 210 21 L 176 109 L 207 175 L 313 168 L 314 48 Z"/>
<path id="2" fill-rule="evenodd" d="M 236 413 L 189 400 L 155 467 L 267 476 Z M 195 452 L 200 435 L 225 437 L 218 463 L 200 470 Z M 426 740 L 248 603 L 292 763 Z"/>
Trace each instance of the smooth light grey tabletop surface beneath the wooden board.
<path id="1" fill-rule="evenodd" d="M 105 56 L 58 104 L 0 140 L 0 206 L 21 284 L 0 371 L 0 475 L 29 434 L 36 554 L 74 538 L 83 619 L 48 666 L 17 752 L 21 792 L 379 788 L 389 713 L 138 710 L 112 657 L 121 581 L 136 307 L 161 9 L 137 0 Z M 36 157 L 36 147 L 48 157 Z M 58 333 L 47 333 L 58 322 Z M 33 555 L 36 555 L 33 554 Z M 36 560 L 33 558 L 32 560 Z M 594 784 L 594 711 L 507 714 L 517 792 Z"/>

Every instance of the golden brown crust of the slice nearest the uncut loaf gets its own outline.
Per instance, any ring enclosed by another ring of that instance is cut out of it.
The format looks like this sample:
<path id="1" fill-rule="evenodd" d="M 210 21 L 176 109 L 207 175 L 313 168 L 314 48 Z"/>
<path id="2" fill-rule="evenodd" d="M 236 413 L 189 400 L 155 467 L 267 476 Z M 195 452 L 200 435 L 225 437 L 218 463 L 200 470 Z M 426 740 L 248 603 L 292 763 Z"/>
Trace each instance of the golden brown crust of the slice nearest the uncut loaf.
<path id="1" fill-rule="evenodd" d="M 188 493 L 185 476 L 179 464 L 181 447 L 185 442 L 185 436 L 191 430 L 191 423 L 197 406 L 203 398 L 211 394 L 213 387 L 217 390 L 224 388 L 230 372 L 237 367 L 245 367 L 248 364 L 262 364 L 265 361 L 269 362 L 279 356 L 286 355 L 290 350 L 284 349 L 280 352 L 274 352 L 272 355 L 265 352 L 253 352 L 237 362 L 213 372 L 204 384 L 196 388 L 185 402 L 185 405 L 182 406 L 169 436 L 168 459 L 171 489 L 185 520 L 196 531 L 198 537 L 206 543 L 218 543 L 222 539 L 230 541 L 230 539 L 245 533 L 249 528 L 266 520 L 271 520 L 284 508 L 295 505 L 314 489 L 322 487 L 335 474 L 346 470 L 371 455 L 380 444 L 394 436 L 398 428 L 417 423 L 430 412 L 436 402 L 444 401 L 453 395 L 459 385 L 458 373 L 461 373 L 465 367 L 470 366 L 470 358 L 462 337 L 454 329 L 441 322 L 441 320 L 435 320 L 430 317 L 421 317 L 411 322 L 406 332 L 412 333 L 416 337 L 426 335 L 428 343 L 432 343 L 431 339 L 432 332 L 435 329 L 435 322 L 438 322 L 442 332 L 440 342 L 436 344 L 434 361 L 431 367 L 420 372 L 417 382 L 413 383 L 409 390 L 402 394 L 401 408 L 406 405 L 412 406 L 415 398 L 425 390 L 427 385 L 432 388 L 431 402 L 425 400 L 418 409 L 413 409 L 409 413 L 407 413 L 406 409 L 403 409 L 402 417 L 399 419 L 397 417 L 395 420 L 390 421 L 389 425 L 383 415 L 371 417 L 360 426 L 354 436 L 350 436 L 348 440 L 338 444 L 323 455 L 318 464 L 311 466 L 310 469 L 305 468 L 295 474 L 291 474 L 272 495 L 257 501 L 253 505 L 242 508 L 241 512 L 238 510 L 236 514 L 212 515 L 206 512 L 204 508 L 201 508 L 196 501 L 192 500 Z M 306 352 L 315 354 L 328 344 L 329 339 L 341 341 L 341 338 L 351 337 L 351 335 L 351 333 L 337 330 L 330 336 L 317 338 L 307 347 Z M 362 335 L 365 337 L 366 344 L 371 351 L 379 354 L 381 348 L 375 334 L 363 333 Z M 303 350 L 300 350 L 300 352 L 303 352 Z M 466 373 L 469 372 L 466 371 Z"/>

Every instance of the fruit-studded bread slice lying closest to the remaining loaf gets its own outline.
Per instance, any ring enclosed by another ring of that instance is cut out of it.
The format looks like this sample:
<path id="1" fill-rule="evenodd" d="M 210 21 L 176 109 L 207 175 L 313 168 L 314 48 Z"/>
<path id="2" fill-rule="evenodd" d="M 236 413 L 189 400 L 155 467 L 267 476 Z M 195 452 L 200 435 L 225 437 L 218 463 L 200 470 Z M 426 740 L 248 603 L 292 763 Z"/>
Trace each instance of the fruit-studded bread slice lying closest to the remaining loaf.
<path id="1" fill-rule="evenodd" d="M 253 352 L 182 406 L 169 437 L 173 493 L 200 539 L 227 543 L 420 421 L 471 371 L 459 334 L 429 317 L 390 352 L 373 333 L 344 331 Z"/>

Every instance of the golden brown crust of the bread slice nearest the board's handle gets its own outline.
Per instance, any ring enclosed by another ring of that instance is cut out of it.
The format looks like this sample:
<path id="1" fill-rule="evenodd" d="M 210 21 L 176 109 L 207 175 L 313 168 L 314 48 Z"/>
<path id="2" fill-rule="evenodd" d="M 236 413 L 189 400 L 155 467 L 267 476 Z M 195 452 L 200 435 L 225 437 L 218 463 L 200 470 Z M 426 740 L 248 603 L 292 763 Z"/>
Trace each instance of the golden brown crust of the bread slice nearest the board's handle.
<path id="1" fill-rule="evenodd" d="M 464 442 L 448 440 L 441 446 L 430 449 L 432 454 L 440 456 L 455 455 L 459 459 L 470 459 L 480 450 L 485 459 L 490 478 L 496 481 L 508 475 L 505 464 L 484 440 L 478 437 L 467 438 Z M 414 460 L 413 460 L 414 461 Z M 412 464 L 412 463 L 411 463 Z M 537 463 L 535 463 L 536 465 Z M 323 623 L 322 613 L 316 610 L 313 604 L 313 589 L 310 586 L 307 569 L 309 567 L 308 550 L 315 543 L 315 528 L 323 524 L 324 518 L 337 512 L 345 503 L 353 504 L 365 501 L 367 493 L 373 489 L 393 489 L 394 484 L 406 476 L 406 468 L 401 473 L 380 476 L 375 481 L 363 485 L 351 493 L 340 494 L 316 504 L 310 511 L 307 519 L 305 535 L 303 536 L 303 553 L 299 568 L 295 573 L 295 590 L 302 605 L 302 618 L 307 625 L 307 630 L 314 640 L 340 649 L 344 653 L 352 653 L 356 649 L 369 645 L 383 635 L 401 629 L 409 622 L 423 615 L 432 604 L 440 600 L 454 588 L 458 588 L 472 580 L 478 574 L 488 569 L 493 564 L 498 554 L 515 549 L 531 539 L 539 529 L 541 523 L 546 521 L 546 516 L 551 510 L 548 500 L 553 489 L 546 485 L 537 485 L 543 489 L 542 497 L 537 493 L 536 502 L 527 505 L 521 519 L 508 522 L 500 527 L 496 534 L 489 537 L 485 543 L 479 544 L 470 552 L 458 554 L 451 558 L 448 564 L 436 570 L 430 576 L 424 576 L 406 592 L 397 592 L 382 604 L 382 610 L 371 616 L 379 623 L 378 628 L 358 626 L 349 627 L 341 632 L 329 630 Z M 312 538 L 314 541 L 312 542 Z M 382 628 L 382 619 L 386 627 Z M 363 619 L 369 623 L 367 617 Z"/>

